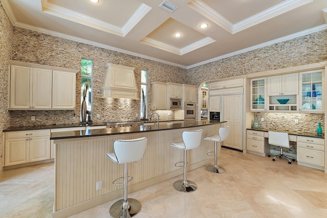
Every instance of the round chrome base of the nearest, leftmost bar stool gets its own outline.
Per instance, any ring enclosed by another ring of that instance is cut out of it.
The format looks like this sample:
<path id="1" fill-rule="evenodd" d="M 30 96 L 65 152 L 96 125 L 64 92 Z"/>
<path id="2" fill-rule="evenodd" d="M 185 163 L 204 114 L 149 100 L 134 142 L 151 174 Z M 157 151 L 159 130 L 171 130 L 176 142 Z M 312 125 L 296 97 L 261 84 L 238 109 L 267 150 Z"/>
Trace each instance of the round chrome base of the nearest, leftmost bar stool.
<path id="1" fill-rule="evenodd" d="M 113 218 L 129 218 L 141 211 L 141 203 L 136 199 L 128 199 L 128 209 L 124 210 L 124 199 L 116 201 L 110 207 L 109 213 Z"/>

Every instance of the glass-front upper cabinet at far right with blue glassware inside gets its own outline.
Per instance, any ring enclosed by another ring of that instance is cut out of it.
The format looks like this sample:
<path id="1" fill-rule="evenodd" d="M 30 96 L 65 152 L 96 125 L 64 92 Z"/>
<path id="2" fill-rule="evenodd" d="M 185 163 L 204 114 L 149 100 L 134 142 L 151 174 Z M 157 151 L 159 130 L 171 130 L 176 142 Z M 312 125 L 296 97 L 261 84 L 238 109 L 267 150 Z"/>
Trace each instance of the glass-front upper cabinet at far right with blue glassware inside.
<path id="1" fill-rule="evenodd" d="M 324 111 L 322 98 L 324 94 L 323 70 L 311 70 L 306 72 L 300 72 L 300 98 L 299 98 L 299 110 L 310 112 L 322 112 Z"/>

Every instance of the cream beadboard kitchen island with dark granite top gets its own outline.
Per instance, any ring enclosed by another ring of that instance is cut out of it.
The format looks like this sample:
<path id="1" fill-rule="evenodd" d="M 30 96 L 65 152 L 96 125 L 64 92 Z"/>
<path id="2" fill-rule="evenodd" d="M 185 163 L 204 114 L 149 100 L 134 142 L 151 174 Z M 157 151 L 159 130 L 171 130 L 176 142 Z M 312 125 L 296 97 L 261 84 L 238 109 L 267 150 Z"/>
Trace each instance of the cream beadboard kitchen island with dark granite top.
<path id="1" fill-rule="evenodd" d="M 110 161 L 113 141 L 147 137 L 144 157 L 129 163 L 129 192 L 183 174 L 175 163 L 183 161 L 183 151 L 170 146 L 182 141 L 182 132 L 202 129 L 201 144 L 188 151 L 188 171 L 213 162 L 208 150 L 212 141 L 205 136 L 218 133 L 224 122 L 203 120 L 193 125 L 160 124 L 51 133 L 55 142 L 55 203 L 53 217 L 67 217 L 108 201 L 123 197 L 123 186 L 112 182 L 123 176 L 124 164 Z M 220 155 L 220 146 L 217 149 Z M 98 185 L 97 185 L 98 184 Z M 169 188 L 169 187 L 168 187 Z M 173 184 L 171 187 L 173 188 Z"/>

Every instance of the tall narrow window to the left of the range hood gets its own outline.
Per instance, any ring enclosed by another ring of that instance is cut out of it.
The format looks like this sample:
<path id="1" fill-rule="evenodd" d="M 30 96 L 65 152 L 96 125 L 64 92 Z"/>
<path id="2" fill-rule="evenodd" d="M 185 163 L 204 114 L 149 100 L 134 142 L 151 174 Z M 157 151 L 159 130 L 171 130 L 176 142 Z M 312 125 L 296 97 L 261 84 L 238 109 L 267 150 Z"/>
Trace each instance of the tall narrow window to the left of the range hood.
<path id="1" fill-rule="evenodd" d="M 92 113 L 92 81 L 93 81 L 93 60 L 84 59 L 81 60 L 81 104 L 86 101 L 86 114 Z M 81 116 L 82 120 L 82 116 Z M 88 117 L 87 121 L 90 121 Z"/>

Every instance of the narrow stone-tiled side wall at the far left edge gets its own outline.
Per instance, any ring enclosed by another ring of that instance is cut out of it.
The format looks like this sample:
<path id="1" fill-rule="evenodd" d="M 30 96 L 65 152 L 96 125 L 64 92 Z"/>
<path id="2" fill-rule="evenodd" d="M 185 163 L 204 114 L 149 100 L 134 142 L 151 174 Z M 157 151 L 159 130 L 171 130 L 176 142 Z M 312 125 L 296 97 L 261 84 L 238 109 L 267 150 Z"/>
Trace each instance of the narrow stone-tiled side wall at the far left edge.
<path id="1" fill-rule="evenodd" d="M 0 171 L 4 162 L 3 130 L 9 128 L 8 113 L 8 60 L 12 52 L 12 25 L 5 10 L 0 5 Z"/>

